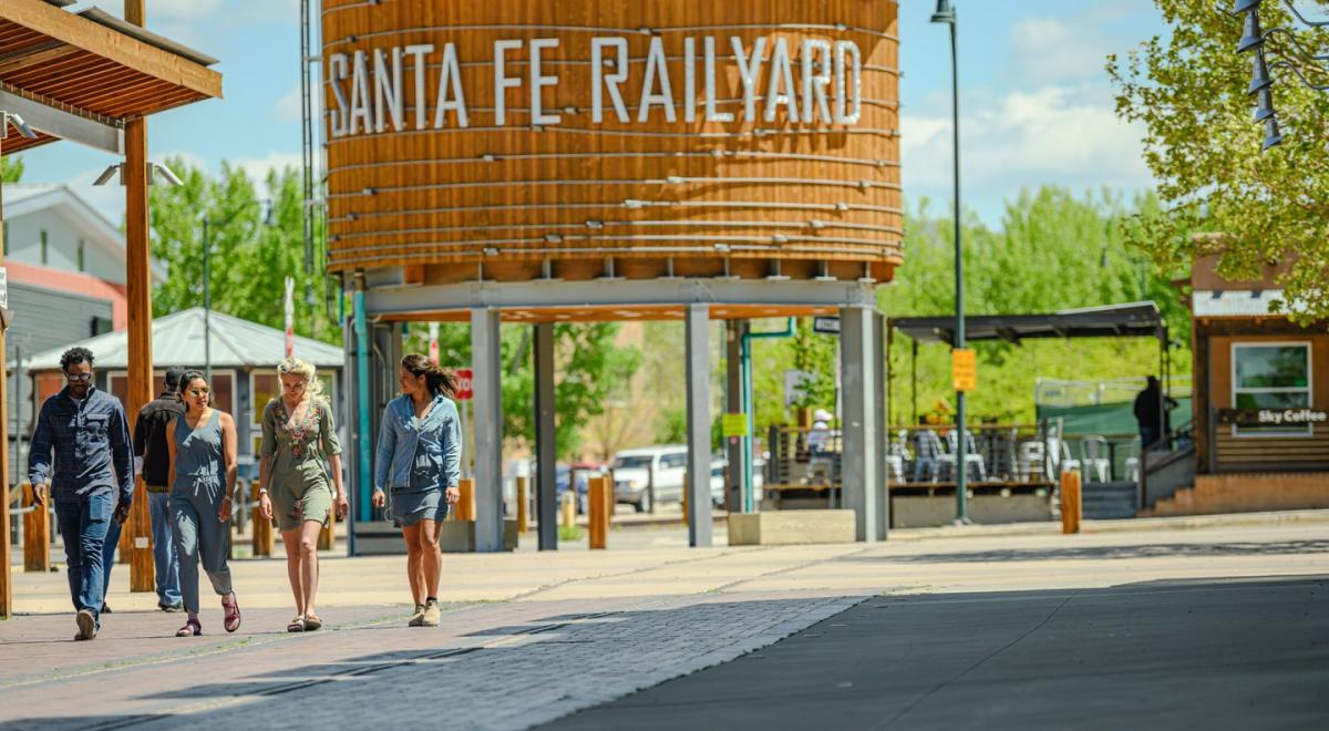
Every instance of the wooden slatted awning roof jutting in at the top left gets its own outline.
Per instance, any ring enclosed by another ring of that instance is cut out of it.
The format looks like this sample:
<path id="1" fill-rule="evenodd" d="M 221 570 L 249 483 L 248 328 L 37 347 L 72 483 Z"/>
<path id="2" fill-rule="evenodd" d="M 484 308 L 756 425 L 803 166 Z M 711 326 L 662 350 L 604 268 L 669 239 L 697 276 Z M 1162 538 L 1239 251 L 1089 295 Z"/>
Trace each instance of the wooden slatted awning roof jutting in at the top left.
<path id="1" fill-rule="evenodd" d="M 128 120 L 222 96 L 215 58 L 96 8 L 0 1 L 0 110 L 37 137 L 3 130 L 4 153 L 57 138 L 124 154 Z"/>

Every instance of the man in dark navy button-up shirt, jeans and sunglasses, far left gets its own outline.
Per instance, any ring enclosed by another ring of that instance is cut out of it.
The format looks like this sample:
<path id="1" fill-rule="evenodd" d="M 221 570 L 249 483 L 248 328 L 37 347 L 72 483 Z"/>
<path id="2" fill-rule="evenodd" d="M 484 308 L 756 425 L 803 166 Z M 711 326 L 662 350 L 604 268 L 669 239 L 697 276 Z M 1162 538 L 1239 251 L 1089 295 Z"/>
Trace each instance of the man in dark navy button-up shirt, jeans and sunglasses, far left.
<path id="1" fill-rule="evenodd" d="M 65 544 L 69 598 L 77 611 L 74 639 L 93 639 L 101 629 L 106 598 L 106 532 L 125 522 L 134 498 L 133 451 L 120 399 L 92 383 L 92 352 L 82 347 L 66 350 L 60 369 L 66 384 L 37 413 L 28 482 L 39 510 L 45 510 L 49 485 Z"/>

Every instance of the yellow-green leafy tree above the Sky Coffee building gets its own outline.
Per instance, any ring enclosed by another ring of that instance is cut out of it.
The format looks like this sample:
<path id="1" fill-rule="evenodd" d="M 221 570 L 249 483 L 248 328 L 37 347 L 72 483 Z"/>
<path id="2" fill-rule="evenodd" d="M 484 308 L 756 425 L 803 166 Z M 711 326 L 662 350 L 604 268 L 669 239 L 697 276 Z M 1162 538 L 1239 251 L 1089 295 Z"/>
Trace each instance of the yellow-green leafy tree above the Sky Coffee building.
<path id="1" fill-rule="evenodd" d="M 1252 58 L 1236 52 L 1241 19 L 1212 0 L 1155 0 L 1170 25 L 1124 58 L 1111 56 L 1116 112 L 1144 125 L 1144 159 L 1158 179 L 1162 215 L 1128 229 L 1132 243 L 1166 267 L 1221 254 L 1220 272 L 1259 278 L 1267 262 L 1292 262 L 1281 276 L 1293 319 L 1329 316 L 1329 94 L 1275 68 L 1273 101 L 1284 142 L 1261 152 L 1264 128 L 1252 122 L 1247 94 Z M 1320 0 L 1329 9 L 1329 3 Z M 1265 28 L 1288 35 L 1265 43 L 1269 64 L 1329 52 L 1329 35 L 1302 29 L 1278 3 L 1264 3 Z M 1293 43 L 1293 39 L 1296 43 Z M 1329 73 L 1313 81 L 1329 81 Z M 1212 235 L 1191 235 L 1205 231 Z"/>

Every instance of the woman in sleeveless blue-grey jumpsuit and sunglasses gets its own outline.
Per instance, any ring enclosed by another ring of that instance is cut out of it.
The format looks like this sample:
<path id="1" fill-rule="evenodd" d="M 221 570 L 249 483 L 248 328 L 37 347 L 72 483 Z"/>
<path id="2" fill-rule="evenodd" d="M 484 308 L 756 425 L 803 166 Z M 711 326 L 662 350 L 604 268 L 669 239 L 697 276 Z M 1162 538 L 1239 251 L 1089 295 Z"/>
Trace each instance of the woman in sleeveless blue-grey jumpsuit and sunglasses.
<path id="1" fill-rule="evenodd" d="M 166 427 L 179 589 L 189 613 L 175 637 L 203 634 L 198 619 L 199 564 L 213 590 L 222 597 L 222 626 L 233 633 L 241 627 L 241 607 L 231 586 L 231 569 L 226 565 L 237 472 L 235 420 L 211 407 L 211 388 L 199 371 L 186 371 L 181 376 L 181 400 L 185 413 Z"/>

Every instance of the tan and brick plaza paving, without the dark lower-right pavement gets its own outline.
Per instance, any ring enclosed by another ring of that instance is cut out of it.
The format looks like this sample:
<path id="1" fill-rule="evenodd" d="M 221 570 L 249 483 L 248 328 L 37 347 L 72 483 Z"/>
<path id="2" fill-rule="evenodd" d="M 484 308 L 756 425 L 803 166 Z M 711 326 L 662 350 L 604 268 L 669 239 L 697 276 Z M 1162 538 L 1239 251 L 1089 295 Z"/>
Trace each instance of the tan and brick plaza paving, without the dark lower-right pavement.
<path id="1" fill-rule="evenodd" d="M 0 622 L 0 724 L 178 726 L 189 715 L 256 728 L 524 728 L 734 661 L 870 597 L 1329 574 L 1324 517 L 1225 517 L 1185 530 L 1151 522 L 1080 536 L 1046 525 L 1002 536 L 965 526 L 909 540 L 897 532 L 882 544 L 456 554 L 444 558 L 448 611 L 437 630 L 401 626 L 404 557 L 327 558 L 319 613 L 328 626 L 308 635 L 282 631 L 291 598 L 279 560 L 234 562 L 245 626 L 221 633 L 209 598 L 198 639 L 170 637 L 182 617 L 153 611 L 155 597 L 129 594 L 128 572 L 117 570 L 116 613 L 94 642 L 74 643 L 65 577 L 16 573 L 16 609 L 28 614 Z M 623 542 L 610 537 L 611 546 Z M 991 618 L 989 605 L 956 606 L 970 623 Z M 930 631 L 910 626 L 900 637 L 929 642 Z M 52 698 L 81 700 L 68 707 Z M 466 702 L 448 700 L 459 698 Z"/>

